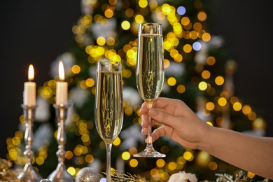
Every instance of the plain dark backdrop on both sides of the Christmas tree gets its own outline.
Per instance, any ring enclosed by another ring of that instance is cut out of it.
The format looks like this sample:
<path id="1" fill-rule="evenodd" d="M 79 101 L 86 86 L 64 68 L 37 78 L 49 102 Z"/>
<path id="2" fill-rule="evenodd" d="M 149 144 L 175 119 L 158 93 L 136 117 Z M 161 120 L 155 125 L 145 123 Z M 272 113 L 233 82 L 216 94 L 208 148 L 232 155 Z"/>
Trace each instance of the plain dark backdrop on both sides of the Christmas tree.
<path id="1" fill-rule="evenodd" d="M 230 59 L 237 61 L 235 94 L 266 120 L 267 136 L 273 137 L 270 1 L 212 0 L 204 4 L 209 8 L 209 32 L 223 36 Z M 50 63 L 73 43 L 71 27 L 81 12 L 79 0 L 1 1 L 0 7 L 0 158 L 6 158 L 6 138 L 13 137 L 20 123 L 29 64 L 34 64 L 39 87 L 50 78 Z"/>

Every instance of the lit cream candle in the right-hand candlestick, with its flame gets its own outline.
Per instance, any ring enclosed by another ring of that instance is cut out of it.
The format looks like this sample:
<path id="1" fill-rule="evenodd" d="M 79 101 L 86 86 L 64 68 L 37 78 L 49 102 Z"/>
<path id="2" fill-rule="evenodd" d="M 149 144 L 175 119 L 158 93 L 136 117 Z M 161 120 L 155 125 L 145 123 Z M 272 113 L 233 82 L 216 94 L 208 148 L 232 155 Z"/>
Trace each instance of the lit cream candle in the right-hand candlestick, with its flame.
<path id="1" fill-rule="evenodd" d="M 67 82 L 64 81 L 64 64 L 62 61 L 59 61 L 59 81 L 56 84 L 56 104 L 64 105 L 67 102 Z"/>

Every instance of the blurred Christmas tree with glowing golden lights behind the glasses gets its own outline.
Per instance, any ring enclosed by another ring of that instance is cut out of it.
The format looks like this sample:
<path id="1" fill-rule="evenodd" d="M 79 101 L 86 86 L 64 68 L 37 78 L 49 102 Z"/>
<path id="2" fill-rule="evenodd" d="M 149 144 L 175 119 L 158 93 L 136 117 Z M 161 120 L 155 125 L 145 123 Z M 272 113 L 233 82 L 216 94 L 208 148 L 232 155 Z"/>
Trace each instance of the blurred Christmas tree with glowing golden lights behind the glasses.
<path id="1" fill-rule="evenodd" d="M 197 174 L 199 181 L 213 181 L 216 173 L 237 171 L 204 151 L 183 148 L 168 138 L 154 143 L 166 158 L 132 157 L 146 146 L 139 118 L 142 99 L 135 85 L 137 29 L 141 22 L 160 22 L 163 27 L 165 85 L 161 97 L 183 100 L 209 125 L 264 134 L 265 122 L 233 93 L 236 63 L 226 58 L 223 39 L 209 34 L 203 2 L 83 0 L 81 3 L 83 15 L 72 28 L 75 46 L 57 57 L 52 63 L 52 80 L 38 88 L 33 144 L 34 167 L 38 172 L 46 177 L 57 166 L 57 125 L 52 104 L 55 104 L 59 60 L 64 62 L 69 99 L 73 102 L 66 120 L 68 171 L 73 176 L 86 166 L 105 171 L 105 146 L 94 126 L 94 74 L 96 62 L 101 59 L 123 63 L 125 118 L 112 149 L 114 169 L 139 174 L 150 181 L 167 181 L 181 170 Z M 25 126 L 23 116 L 20 121 Z M 24 128 L 7 139 L 8 159 L 16 165 L 25 164 L 23 136 Z"/>

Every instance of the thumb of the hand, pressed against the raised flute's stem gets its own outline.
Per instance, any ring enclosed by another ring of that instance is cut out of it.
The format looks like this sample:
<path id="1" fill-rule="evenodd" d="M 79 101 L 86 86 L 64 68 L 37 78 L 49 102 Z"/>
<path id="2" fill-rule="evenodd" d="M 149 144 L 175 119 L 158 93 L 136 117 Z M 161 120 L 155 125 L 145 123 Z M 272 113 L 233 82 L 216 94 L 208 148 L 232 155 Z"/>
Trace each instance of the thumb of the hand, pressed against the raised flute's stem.
<path id="1" fill-rule="evenodd" d="M 153 120 L 156 120 L 158 123 L 166 124 L 173 128 L 179 127 L 179 122 L 177 121 L 178 118 L 176 116 L 169 115 L 164 111 L 154 108 L 149 109 L 148 114 L 149 116 L 151 116 L 151 118 L 153 118 Z"/>

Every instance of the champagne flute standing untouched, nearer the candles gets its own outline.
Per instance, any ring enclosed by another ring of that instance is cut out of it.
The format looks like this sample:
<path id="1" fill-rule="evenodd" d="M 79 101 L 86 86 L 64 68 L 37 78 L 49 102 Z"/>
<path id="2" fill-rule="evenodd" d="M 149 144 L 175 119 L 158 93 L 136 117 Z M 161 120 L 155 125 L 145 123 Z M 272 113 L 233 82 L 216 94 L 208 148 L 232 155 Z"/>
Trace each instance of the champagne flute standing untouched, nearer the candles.
<path id="1" fill-rule="evenodd" d="M 106 181 L 111 181 L 111 148 L 123 127 L 123 85 L 120 62 L 97 62 L 94 118 L 106 145 Z"/>

